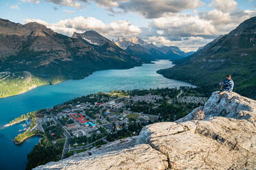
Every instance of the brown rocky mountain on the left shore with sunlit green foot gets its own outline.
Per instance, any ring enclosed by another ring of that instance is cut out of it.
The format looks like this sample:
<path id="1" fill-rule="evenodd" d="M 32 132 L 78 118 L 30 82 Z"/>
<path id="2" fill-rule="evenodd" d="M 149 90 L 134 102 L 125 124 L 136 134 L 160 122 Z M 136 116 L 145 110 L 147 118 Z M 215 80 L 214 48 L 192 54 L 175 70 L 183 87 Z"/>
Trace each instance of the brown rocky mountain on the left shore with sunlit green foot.
<path id="1" fill-rule="evenodd" d="M 70 38 L 39 23 L 21 25 L 0 19 L 0 97 L 144 62 L 96 32 L 79 34 L 91 43 L 75 35 Z"/>

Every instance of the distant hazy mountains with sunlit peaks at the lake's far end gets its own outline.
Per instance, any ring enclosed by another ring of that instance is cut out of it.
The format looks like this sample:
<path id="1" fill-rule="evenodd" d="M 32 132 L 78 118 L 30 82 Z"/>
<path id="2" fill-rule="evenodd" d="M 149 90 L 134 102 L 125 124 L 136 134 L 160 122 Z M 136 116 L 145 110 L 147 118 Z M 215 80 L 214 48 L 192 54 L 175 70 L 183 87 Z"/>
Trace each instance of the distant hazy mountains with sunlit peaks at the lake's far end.
<path id="1" fill-rule="evenodd" d="M 125 51 L 139 56 L 143 59 L 150 59 L 150 60 L 159 60 L 159 59 L 168 59 L 168 60 L 179 60 L 182 58 L 186 58 L 190 56 L 194 52 L 185 53 L 181 51 L 179 47 L 176 46 L 162 46 L 157 47 L 153 45 L 153 43 L 145 42 L 144 40 L 138 37 L 132 38 L 118 38 L 117 40 L 113 40 L 116 45 L 120 48 L 125 49 Z"/>

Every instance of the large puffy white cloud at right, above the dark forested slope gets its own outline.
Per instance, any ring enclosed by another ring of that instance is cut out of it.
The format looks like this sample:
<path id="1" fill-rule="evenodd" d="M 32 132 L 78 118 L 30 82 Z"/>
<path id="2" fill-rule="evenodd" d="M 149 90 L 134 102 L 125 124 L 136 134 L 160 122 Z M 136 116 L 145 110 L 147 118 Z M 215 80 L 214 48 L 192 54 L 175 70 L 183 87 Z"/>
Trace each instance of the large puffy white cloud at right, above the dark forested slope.
<path id="1" fill-rule="evenodd" d="M 193 14 L 169 14 L 158 19 L 153 19 L 149 27 L 161 36 L 178 39 L 179 37 L 200 36 L 203 38 L 217 38 L 235 29 L 246 19 L 256 16 L 256 11 L 240 10 L 235 8 L 230 12 L 211 10 Z"/>

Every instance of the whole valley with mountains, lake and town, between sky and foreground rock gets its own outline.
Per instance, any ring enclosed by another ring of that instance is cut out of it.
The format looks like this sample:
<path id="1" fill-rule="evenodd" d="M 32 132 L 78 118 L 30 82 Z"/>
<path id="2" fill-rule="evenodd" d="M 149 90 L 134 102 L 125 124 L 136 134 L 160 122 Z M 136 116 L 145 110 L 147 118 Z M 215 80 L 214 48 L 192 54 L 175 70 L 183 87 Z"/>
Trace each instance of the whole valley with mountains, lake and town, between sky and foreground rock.
<path id="1" fill-rule="evenodd" d="M 0 106 L 8 113 L 0 121 L 8 150 L 1 165 L 32 169 L 113 141 L 130 143 L 145 125 L 190 117 L 228 73 L 236 92 L 255 99 L 255 23 L 248 19 L 185 53 L 138 37 L 111 41 L 93 30 L 70 37 L 0 19 Z M 39 143 L 23 148 L 33 138 Z M 17 165 L 6 161 L 19 150 Z"/>

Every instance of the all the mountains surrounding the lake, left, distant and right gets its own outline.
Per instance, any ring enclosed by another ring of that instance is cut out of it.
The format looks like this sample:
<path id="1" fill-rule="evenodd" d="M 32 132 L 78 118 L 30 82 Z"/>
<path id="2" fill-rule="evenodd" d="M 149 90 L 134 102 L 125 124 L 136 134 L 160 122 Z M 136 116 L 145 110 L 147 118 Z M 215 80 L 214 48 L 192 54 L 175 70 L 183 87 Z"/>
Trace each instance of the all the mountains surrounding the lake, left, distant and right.
<path id="1" fill-rule="evenodd" d="M 195 53 L 157 47 L 140 38 L 111 41 L 97 32 L 53 32 L 39 23 L 21 25 L 0 19 L 0 97 L 17 95 L 44 84 L 81 79 L 93 71 L 127 69 L 156 59 L 182 59 L 158 73 L 202 88 L 219 88 L 233 75 L 235 91 L 256 99 L 256 17 L 241 23 Z"/>

